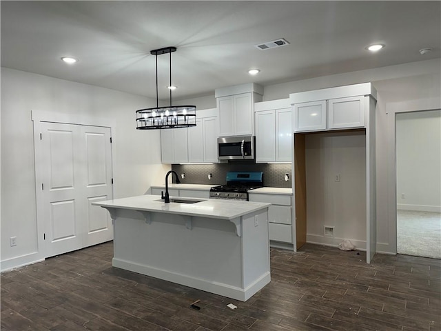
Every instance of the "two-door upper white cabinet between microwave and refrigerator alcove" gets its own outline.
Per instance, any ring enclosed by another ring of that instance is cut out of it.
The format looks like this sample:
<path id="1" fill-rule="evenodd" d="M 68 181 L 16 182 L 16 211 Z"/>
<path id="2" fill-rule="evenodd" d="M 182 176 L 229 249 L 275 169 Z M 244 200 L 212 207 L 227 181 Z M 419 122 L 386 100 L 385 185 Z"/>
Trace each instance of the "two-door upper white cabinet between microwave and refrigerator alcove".
<path id="1" fill-rule="evenodd" d="M 289 99 L 254 104 L 256 162 L 291 162 L 292 109 Z"/>

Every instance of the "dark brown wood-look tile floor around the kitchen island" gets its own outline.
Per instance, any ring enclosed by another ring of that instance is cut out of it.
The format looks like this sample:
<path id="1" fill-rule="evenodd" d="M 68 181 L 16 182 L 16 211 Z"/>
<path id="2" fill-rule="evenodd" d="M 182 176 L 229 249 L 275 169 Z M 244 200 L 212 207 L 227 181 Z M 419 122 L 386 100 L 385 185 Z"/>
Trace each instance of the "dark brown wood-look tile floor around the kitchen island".
<path id="1" fill-rule="evenodd" d="M 438 259 L 271 249 L 271 283 L 244 303 L 112 268 L 112 249 L 3 272 L 1 330 L 441 330 Z"/>

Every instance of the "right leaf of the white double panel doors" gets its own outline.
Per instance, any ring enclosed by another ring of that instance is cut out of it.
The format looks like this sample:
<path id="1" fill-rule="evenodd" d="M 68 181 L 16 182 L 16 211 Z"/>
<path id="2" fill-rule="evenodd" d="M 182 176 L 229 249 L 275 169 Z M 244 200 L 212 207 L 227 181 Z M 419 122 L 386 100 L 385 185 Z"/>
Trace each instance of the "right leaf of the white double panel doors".
<path id="1" fill-rule="evenodd" d="M 87 205 L 85 247 L 113 239 L 110 214 L 92 205 L 92 202 L 112 199 L 112 148 L 110 128 L 80 126 L 80 130 L 86 170 L 85 196 L 82 197 Z"/>

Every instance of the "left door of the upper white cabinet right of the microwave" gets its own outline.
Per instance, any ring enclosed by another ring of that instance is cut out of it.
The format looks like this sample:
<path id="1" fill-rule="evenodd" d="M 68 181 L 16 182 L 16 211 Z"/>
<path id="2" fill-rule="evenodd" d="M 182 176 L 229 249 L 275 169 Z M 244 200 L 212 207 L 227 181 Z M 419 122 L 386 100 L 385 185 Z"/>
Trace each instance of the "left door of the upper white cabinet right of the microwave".
<path id="1" fill-rule="evenodd" d="M 276 159 L 276 126 L 274 110 L 256 112 L 256 162 Z"/>

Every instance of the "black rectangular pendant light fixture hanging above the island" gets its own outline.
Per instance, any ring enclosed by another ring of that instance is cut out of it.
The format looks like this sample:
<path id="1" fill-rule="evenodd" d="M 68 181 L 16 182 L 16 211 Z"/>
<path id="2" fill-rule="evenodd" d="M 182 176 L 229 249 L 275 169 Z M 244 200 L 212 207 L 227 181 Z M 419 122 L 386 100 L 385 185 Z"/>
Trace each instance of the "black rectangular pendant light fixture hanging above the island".
<path id="1" fill-rule="evenodd" d="M 136 110 L 136 129 L 170 129 L 196 126 L 196 106 L 172 106 L 172 89 L 170 88 L 170 106 L 158 105 L 158 55 L 170 54 L 170 85 L 172 86 L 172 52 L 176 47 L 165 47 L 151 50 L 156 57 L 156 107 Z"/>

